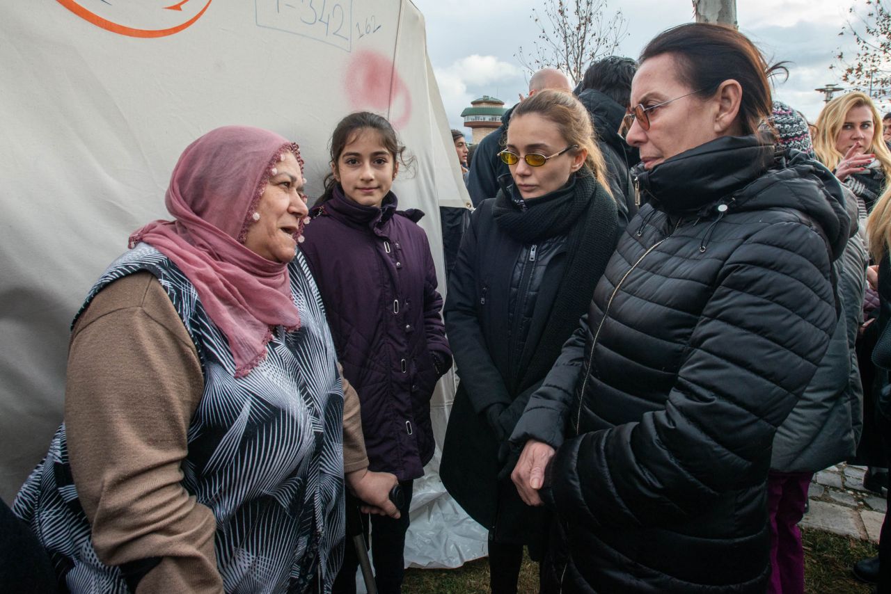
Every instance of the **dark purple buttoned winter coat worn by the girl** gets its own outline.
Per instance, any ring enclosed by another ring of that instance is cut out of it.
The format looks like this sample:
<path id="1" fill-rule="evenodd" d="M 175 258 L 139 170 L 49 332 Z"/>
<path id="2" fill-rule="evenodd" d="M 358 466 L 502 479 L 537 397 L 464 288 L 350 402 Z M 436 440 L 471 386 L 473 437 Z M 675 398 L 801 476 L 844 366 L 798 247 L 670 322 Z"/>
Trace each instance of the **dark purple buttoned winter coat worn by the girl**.
<path id="1" fill-rule="evenodd" d="M 443 299 L 418 210 L 334 196 L 310 213 L 300 244 L 322 293 L 344 376 L 362 403 L 369 468 L 400 481 L 433 456 L 430 396 L 452 365 Z"/>

